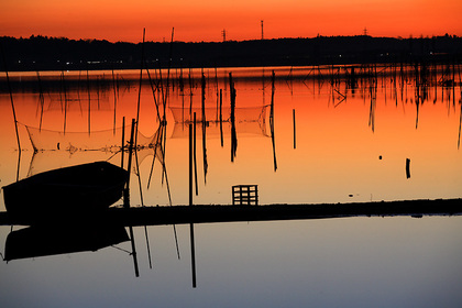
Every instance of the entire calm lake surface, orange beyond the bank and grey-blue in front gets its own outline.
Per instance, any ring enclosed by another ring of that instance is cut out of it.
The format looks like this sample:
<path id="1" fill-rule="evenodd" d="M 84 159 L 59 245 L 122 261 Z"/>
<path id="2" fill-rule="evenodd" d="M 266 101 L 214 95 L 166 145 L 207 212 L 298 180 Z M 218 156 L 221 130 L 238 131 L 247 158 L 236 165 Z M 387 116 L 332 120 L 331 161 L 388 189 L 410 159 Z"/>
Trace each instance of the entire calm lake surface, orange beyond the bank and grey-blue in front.
<path id="1" fill-rule="evenodd" d="M 205 69 L 204 90 L 200 69 L 173 69 L 165 135 L 160 134 L 155 106 L 166 92 L 166 72 L 164 91 L 154 94 L 160 80 L 155 70 L 150 72 L 153 85 L 143 73 L 141 94 L 135 70 L 41 73 L 40 84 L 35 73 L 11 74 L 13 81 L 22 81 L 13 84 L 13 101 L 23 151 L 19 155 L 10 96 L 2 86 L 0 184 L 80 163 L 120 165 L 121 155 L 111 146 L 122 143 L 122 118 L 129 125 L 140 101 L 139 143 L 161 135 L 165 153 L 157 152 L 151 173 L 156 147 L 138 152 L 131 204 L 168 206 L 169 191 L 173 206 L 187 205 L 189 114 L 196 112 L 201 121 L 204 92 L 208 122 L 205 130 L 196 125 L 195 204 L 229 205 L 231 186 L 239 184 L 258 185 L 260 204 L 461 198 L 460 68 L 452 69 Z M 237 91 L 232 161 L 229 73 Z M 0 227 L 0 248 L 10 231 Z M 146 228 L 153 268 L 145 229 L 134 228 L 140 277 L 130 242 L 98 252 L 1 262 L 0 304 L 459 307 L 461 231 L 460 217 L 196 224 L 193 288 L 189 226 L 176 226 L 179 260 L 172 226 Z"/>

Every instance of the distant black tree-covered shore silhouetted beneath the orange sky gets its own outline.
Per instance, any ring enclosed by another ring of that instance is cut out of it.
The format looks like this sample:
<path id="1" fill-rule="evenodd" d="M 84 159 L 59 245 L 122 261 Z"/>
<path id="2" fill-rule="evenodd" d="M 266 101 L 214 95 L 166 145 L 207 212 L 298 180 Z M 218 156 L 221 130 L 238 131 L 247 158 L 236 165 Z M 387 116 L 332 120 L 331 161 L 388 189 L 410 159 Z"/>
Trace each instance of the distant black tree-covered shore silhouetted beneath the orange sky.
<path id="1" fill-rule="evenodd" d="M 140 68 L 141 43 L 34 36 L 0 37 L 0 70 Z M 317 36 L 228 42 L 144 43 L 145 65 L 157 67 L 301 66 L 323 64 L 460 62 L 462 37 Z M 170 54 L 172 51 L 172 54 Z"/>

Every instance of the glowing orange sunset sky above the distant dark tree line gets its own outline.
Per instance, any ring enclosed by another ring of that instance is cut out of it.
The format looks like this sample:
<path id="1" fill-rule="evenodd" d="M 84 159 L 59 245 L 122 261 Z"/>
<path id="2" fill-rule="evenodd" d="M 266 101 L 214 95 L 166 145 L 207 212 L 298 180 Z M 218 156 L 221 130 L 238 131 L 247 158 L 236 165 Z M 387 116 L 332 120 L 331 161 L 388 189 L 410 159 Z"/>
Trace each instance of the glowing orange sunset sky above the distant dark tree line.
<path id="1" fill-rule="evenodd" d="M 358 35 L 462 36 L 461 0 L 0 0 L 0 36 L 110 42 Z"/>

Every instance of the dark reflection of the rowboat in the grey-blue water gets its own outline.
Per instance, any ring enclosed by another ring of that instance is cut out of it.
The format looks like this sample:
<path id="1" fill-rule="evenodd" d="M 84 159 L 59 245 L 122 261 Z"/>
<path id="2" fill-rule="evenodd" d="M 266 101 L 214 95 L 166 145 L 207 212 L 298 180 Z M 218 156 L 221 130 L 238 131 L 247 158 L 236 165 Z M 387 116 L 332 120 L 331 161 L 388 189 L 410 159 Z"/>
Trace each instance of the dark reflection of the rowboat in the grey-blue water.
<path id="1" fill-rule="evenodd" d="M 122 226 L 33 226 L 7 237 L 4 261 L 97 251 L 129 241 Z"/>

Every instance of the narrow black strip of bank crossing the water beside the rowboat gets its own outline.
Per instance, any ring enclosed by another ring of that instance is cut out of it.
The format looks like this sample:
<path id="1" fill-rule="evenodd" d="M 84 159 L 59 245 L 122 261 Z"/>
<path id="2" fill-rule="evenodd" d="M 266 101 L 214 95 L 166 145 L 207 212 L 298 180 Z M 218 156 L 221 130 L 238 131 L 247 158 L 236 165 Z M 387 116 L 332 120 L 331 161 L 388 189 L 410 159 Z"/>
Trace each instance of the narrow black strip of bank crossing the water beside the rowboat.
<path id="1" fill-rule="evenodd" d="M 382 202 L 317 204 L 317 205 L 266 205 L 230 206 L 195 205 L 174 207 L 110 208 L 102 212 L 74 212 L 68 219 L 57 220 L 53 215 L 35 218 L 11 218 L 0 212 L 0 226 L 34 223 L 86 223 L 111 221 L 129 226 L 163 226 L 183 223 L 213 223 L 238 221 L 302 220 L 344 217 L 395 217 L 395 216 L 459 216 L 462 199 L 403 200 Z"/>

